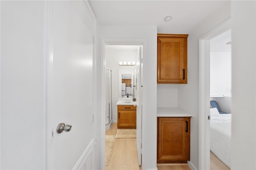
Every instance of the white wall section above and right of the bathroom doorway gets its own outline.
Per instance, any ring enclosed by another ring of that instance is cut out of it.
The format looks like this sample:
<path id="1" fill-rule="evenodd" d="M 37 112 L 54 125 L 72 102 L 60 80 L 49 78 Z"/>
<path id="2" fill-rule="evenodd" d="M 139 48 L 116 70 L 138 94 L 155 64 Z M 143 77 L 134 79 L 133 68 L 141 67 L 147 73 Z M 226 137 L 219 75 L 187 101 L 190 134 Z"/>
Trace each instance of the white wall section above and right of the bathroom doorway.
<path id="1" fill-rule="evenodd" d="M 142 130 L 142 168 L 156 169 L 156 47 L 157 28 L 102 26 L 99 38 L 146 39 L 144 53 L 144 101 L 146 113 L 143 115 Z M 100 40 L 99 40 L 100 41 Z M 150 97 L 148 94 L 150 94 Z"/>

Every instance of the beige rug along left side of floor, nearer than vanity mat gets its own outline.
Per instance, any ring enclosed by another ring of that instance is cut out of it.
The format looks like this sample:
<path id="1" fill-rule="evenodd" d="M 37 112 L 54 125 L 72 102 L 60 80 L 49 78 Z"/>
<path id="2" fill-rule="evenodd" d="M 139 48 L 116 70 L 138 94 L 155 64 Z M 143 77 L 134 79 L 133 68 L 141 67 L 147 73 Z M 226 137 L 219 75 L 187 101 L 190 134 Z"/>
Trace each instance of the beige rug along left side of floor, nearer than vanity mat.
<path id="1" fill-rule="evenodd" d="M 106 147 L 105 147 L 105 166 L 108 166 L 111 156 L 113 153 L 116 136 L 115 135 L 106 135 Z"/>

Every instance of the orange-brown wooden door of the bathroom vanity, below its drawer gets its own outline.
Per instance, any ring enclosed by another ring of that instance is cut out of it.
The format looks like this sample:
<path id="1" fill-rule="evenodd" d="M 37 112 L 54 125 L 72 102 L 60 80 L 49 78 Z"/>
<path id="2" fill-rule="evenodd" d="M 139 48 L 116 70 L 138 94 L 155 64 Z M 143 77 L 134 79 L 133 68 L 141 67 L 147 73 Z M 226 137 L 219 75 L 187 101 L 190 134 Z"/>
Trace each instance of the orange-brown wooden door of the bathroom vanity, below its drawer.
<path id="1" fill-rule="evenodd" d="M 118 128 L 136 128 L 136 111 L 118 111 Z"/>

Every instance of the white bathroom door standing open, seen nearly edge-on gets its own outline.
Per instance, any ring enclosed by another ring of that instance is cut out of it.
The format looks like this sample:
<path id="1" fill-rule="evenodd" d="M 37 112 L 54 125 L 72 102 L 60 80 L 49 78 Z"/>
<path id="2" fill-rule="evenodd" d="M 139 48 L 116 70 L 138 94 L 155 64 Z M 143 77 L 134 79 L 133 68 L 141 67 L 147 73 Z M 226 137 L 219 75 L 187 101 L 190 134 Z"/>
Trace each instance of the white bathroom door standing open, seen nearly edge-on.
<path id="1" fill-rule="evenodd" d="M 142 148 L 142 47 L 139 47 L 138 59 L 137 59 L 137 69 L 136 69 L 136 77 L 137 77 L 137 123 L 136 123 L 136 140 L 137 140 L 137 154 L 138 154 L 138 163 L 141 165 L 141 148 Z"/>

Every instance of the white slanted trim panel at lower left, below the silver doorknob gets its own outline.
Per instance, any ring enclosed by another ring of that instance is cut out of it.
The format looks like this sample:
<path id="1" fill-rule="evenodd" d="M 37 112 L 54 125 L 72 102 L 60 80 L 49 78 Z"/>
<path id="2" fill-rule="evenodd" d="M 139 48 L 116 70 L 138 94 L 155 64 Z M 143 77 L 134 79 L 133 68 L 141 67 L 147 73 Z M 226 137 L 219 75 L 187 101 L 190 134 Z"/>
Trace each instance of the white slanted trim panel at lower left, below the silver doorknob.
<path id="1" fill-rule="evenodd" d="M 92 140 L 86 146 L 80 158 L 78 158 L 72 170 L 92 169 L 92 166 L 95 166 L 94 163 L 92 163 L 94 162 L 94 160 L 92 159 L 95 159 L 95 158 L 92 158 L 92 152 L 93 150 L 95 150 L 95 147 L 94 147 L 95 144 L 96 144 L 96 141 L 94 138 L 92 138 Z M 92 161 L 87 161 L 87 160 L 92 160 Z"/>

